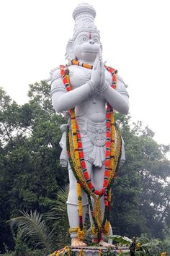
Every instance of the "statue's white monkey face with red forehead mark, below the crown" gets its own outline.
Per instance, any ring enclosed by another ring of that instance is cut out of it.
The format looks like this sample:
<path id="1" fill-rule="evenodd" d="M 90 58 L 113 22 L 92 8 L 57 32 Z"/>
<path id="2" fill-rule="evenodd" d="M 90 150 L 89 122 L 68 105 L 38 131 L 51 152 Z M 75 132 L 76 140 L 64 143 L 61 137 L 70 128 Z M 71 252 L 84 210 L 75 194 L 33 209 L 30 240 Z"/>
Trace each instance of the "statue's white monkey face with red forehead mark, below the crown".
<path id="1" fill-rule="evenodd" d="M 100 51 L 99 35 L 94 32 L 81 32 L 74 41 L 73 51 L 76 59 L 94 62 Z"/>

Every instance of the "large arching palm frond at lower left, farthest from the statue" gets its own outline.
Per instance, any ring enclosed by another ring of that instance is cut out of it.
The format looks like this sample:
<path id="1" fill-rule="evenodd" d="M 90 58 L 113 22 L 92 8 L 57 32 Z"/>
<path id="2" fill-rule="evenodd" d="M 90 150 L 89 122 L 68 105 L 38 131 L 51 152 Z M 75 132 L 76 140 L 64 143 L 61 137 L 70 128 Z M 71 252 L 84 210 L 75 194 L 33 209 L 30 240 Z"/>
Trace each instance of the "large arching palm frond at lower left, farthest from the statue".
<path id="1" fill-rule="evenodd" d="M 53 236 L 50 234 L 45 221 L 42 220 L 42 214 L 37 213 L 36 210 L 33 213 L 32 211 L 30 213 L 22 211 L 21 213 L 22 216 L 9 220 L 10 226 L 12 228 L 14 226 L 19 227 L 23 240 L 31 237 L 35 241 L 35 247 L 51 249 Z"/>

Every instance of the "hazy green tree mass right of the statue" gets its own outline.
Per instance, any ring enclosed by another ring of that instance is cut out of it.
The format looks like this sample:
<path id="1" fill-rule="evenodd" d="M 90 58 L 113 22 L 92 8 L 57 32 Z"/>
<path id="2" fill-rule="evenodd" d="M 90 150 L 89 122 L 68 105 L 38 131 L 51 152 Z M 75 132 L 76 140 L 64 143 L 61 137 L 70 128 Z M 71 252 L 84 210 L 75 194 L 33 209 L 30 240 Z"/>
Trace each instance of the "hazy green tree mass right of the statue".
<path id="1" fill-rule="evenodd" d="M 112 226 L 115 234 L 163 239 L 169 229 L 169 147 L 158 145 L 142 123 L 117 115 L 125 140 L 126 161 L 113 186 Z"/>

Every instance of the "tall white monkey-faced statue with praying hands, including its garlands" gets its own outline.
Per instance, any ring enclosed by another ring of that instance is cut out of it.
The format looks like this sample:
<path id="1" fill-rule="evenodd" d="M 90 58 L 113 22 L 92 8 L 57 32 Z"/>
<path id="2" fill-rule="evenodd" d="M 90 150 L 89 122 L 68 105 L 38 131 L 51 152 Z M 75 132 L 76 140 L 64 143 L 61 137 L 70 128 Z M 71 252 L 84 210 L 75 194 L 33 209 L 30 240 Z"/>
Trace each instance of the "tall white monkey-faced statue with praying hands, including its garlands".
<path id="1" fill-rule="evenodd" d="M 61 164 L 68 165 L 67 201 L 71 245 L 86 246 L 84 218 L 87 205 L 92 239 L 103 241 L 110 231 L 109 202 L 118 162 L 125 161 L 123 141 L 113 109 L 128 114 L 125 82 L 115 69 L 104 65 L 96 12 L 89 4 L 73 11 L 73 38 L 66 47 L 68 65 L 51 73 L 51 98 L 56 112 L 68 117 L 61 131 Z M 122 148 L 122 153 L 121 153 Z"/>

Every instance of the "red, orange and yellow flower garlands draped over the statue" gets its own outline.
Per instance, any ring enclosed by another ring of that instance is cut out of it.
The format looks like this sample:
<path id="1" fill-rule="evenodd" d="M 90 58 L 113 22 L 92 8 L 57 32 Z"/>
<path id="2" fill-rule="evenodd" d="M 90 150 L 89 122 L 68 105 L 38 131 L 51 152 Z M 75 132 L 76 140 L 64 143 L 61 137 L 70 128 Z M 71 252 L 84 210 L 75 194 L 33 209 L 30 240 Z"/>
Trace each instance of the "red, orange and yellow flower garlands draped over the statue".
<path id="1" fill-rule="evenodd" d="M 72 64 L 79 65 L 81 67 L 86 67 L 92 69 L 93 66 L 89 64 L 81 64 L 79 61 L 72 60 Z M 112 88 L 116 88 L 117 71 L 111 67 L 105 68 L 112 74 Z M 63 84 L 66 86 L 66 90 L 69 92 L 71 88 L 69 80 L 69 70 L 67 67 L 61 66 L 61 77 L 63 79 Z M 67 149 L 68 157 L 71 163 L 71 168 L 74 176 L 77 179 L 77 193 L 79 202 L 79 222 L 80 230 L 83 230 L 82 222 L 82 202 L 81 202 L 81 187 L 84 189 L 88 196 L 89 206 L 91 209 L 91 216 L 94 221 L 95 230 L 97 231 L 98 240 L 102 238 L 102 231 L 105 229 L 105 233 L 109 232 L 109 208 L 111 200 L 111 189 L 112 180 L 115 178 L 115 172 L 117 171 L 118 162 L 120 160 L 121 153 L 121 138 L 120 132 L 118 132 L 115 127 L 115 119 L 113 115 L 112 107 L 107 103 L 107 114 L 106 114 L 106 151 L 105 151 L 105 171 L 104 171 L 104 182 L 103 187 L 99 191 L 94 188 L 91 182 L 89 173 L 86 169 L 86 162 L 84 160 L 84 151 L 81 142 L 81 133 L 79 131 L 79 125 L 76 122 L 76 116 L 74 108 L 70 110 L 71 114 L 71 131 L 67 134 Z M 115 152 L 115 133 L 117 133 L 117 150 Z M 108 197 L 109 195 L 109 197 Z M 104 196 L 105 210 L 104 219 L 101 218 L 100 209 L 100 197 Z M 94 209 L 91 203 L 91 197 L 94 198 Z M 107 223 L 106 223 L 107 220 Z M 105 226 L 104 226 L 105 225 Z M 81 235 L 82 239 L 82 235 Z"/>

